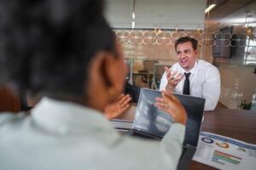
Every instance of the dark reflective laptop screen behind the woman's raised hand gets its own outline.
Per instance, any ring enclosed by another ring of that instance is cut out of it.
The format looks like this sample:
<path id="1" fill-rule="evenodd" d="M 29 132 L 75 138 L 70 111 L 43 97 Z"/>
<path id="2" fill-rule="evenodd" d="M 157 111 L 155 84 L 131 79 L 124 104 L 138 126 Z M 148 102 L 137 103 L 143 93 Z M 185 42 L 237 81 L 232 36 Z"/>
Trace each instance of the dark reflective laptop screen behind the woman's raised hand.
<path id="1" fill-rule="evenodd" d="M 205 99 L 189 95 L 175 94 L 187 111 L 188 121 L 183 144 L 196 146 L 201 119 L 203 116 Z M 160 97 L 160 91 L 143 88 L 137 104 L 137 111 L 134 117 L 132 128 L 151 135 L 155 138 L 162 138 L 172 126 L 172 117 L 154 106 L 155 98 Z"/>

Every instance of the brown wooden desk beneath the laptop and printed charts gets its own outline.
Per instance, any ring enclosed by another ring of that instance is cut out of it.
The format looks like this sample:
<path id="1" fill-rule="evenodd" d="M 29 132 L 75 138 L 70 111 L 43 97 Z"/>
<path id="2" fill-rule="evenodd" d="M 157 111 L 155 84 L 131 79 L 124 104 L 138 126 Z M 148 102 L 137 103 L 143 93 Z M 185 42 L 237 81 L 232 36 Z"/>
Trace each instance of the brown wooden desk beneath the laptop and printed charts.
<path id="1" fill-rule="evenodd" d="M 130 110 L 118 118 L 132 121 L 135 111 L 136 105 L 131 105 Z M 230 138 L 240 139 L 250 144 L 256 144 L 256 111 L 231 109 L 206 111 L 201 132 L 217 133 Z M 209 170 L 215 168 L 192 161 L 189 169 Z"/>

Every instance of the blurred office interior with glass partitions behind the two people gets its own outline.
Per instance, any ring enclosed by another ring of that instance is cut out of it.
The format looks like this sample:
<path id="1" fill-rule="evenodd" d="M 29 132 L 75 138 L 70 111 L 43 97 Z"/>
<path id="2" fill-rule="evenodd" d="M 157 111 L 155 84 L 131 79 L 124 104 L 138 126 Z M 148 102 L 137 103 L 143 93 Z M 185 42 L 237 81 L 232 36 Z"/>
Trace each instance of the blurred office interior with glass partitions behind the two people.
<path id="1" fill-rule="evenodd" d="M 248 109 L 256 94 L 256 0 L 107 0 L 105 5 L 130 69 L 127 82 L 158 89 L 163 66 L 176 62 L 174 42 L 191 36 L 199 41 L 198 58 L 218 67 L 219 103 Z M 0 111 L 29 109 L 37 99 L 27 95 L 1 88 Z"/>

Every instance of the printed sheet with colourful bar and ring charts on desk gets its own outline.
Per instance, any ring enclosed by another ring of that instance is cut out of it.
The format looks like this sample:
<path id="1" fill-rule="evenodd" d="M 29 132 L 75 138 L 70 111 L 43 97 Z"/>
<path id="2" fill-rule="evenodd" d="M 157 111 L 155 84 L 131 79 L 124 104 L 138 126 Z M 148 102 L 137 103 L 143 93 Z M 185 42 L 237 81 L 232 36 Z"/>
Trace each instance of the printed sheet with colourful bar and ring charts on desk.
<path id="1" fill-rule="evenodd" d="M 224 170 L 254 170 L 256 144 L 247 144 L 241 140 L 201 132 L 193 160 Z"/>

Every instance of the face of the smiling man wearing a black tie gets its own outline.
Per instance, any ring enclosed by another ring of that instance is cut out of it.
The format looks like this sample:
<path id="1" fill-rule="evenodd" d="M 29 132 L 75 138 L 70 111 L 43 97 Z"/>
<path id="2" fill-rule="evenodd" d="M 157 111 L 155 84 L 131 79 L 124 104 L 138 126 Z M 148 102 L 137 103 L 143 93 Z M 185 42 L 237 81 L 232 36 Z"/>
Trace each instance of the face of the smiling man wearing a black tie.
<path id="1" fill-rule="evenodd" d="M 185 71 L 190 71 L 195 65 L 197 50 L 192 48 L 191 42 L 177 44 L 177 62 Z"/>

